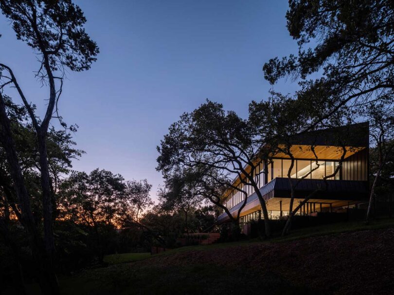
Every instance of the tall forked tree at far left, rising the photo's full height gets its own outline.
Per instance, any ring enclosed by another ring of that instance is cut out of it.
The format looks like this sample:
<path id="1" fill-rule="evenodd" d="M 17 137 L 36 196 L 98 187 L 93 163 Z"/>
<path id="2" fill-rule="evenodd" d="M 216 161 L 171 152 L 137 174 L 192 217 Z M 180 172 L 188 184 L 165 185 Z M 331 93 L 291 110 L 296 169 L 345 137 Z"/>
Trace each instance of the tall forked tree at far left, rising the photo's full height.
<path id="1" fill-rule="evenodd" d="M 82 71 L 90 68 L 99 50 L 95 42 L 85 32 L 86 22 L 81 9 L 71 0 L 1 0 L 0 8 L 12 23 L 17 38 L 27 43 L 36 52 L 39 66 L 36 77 L 49 86 L 48 106 L 40 121 L 28 102 L 29 97 L 22 91 L 11 67 L 0 63 L 0 141 L 7 154 L 11 175 L 16 187 L 23 225 L 28 230 L 31 248 L 36 261 L 39 284 L 44 294 L 58 294 L 57 279 L 54 274 L 54 234 L 53 234 L 53 191 L 48 165 L 47 135 L 49 123 L 57 114 L 57 101 L 62 93 L 66 68 Z M 4 105 L 2 92 L 6 87 L 15 87 L 23 101 L 36 132 L 39 152 L 41 195 L 44 220 L 44 249 L 35 225 L 29 193 L 23 179 L 18 154 Z M 66 126 L 59 115 L 61 124 Z"/>

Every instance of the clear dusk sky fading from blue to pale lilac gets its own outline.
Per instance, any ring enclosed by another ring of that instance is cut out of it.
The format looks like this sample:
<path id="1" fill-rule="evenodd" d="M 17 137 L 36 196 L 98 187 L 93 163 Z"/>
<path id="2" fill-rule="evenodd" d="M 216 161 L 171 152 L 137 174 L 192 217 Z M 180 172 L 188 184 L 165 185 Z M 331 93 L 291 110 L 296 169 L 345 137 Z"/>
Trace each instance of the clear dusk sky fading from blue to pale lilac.
<path id="1" fill-rule="evenodd" d="M 146 178 L 154 198 L 162 183 L 156 146 L 169 125 L 205 98 L 245 117 L 249 102 L 272 88 L 263 64 L 297 50 L 286 29 L 286 0 L 75 2 L 100 54 L 89 71 L 68 73 L 59 103 L 65 121 L 79 125 L 74 139 L 87 152 L 73 168 Z M 47 91 L 34 78 L 35 55 L 3 16 L 0 34 L 0 61 L 43 115 Z M 296 88 L 290 81 L 273 87 Z"/>

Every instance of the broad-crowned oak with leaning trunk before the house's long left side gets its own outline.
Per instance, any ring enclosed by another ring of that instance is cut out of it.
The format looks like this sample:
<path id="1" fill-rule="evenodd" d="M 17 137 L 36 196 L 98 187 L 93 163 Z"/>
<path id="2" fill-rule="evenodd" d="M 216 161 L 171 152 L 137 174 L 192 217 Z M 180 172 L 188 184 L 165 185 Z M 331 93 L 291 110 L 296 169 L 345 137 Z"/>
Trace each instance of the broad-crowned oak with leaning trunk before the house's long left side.
<path id="1" fill-rule="evenodd" d="M 251 188 L 260 200 L 266 221 L 265 232 L 269 236 L 267 207 L 258 184 L 263 172 L 257 171 L 262 137 L 247 120 L 232 111 L 225 112 L 221 104 L 207 100 L 192 113 L 181 115 L 180 120 L 170 126 L 169 133 L 158 147 L 157 170 L 166 177 L 183 168 L 202 167 L 215 184 L 225 190 L 240 192 L 244 197 L 235 222 L 238 222 Z M 240 180 L 241 186 L 234 185 L 235 178 Z"/>

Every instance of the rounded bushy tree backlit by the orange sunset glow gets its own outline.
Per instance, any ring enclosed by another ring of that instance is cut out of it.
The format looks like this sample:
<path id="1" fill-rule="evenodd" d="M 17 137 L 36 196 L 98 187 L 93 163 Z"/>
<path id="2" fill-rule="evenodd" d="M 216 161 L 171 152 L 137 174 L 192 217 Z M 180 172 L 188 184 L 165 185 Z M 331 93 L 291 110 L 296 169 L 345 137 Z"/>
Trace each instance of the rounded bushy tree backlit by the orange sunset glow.
<path id="1" fill-rule="evenodd" d="M 91 246 L 103 262 L 112 233 L 130 224 L 140 225 L 138 215 L 152 204 L 151 187 L 147 180 L 125 182 L 121 175 L 104 169 L 89 174 L 73 171 L 60 185 L 61 219 L 90 231 L 94 236 Z"/>

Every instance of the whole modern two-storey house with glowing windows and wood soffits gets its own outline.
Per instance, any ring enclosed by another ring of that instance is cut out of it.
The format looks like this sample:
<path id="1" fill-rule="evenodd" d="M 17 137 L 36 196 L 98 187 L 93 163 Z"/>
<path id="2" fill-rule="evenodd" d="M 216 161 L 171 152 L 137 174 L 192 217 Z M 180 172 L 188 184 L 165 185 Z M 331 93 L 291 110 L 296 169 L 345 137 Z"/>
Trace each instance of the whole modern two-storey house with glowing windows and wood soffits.
<path id="1" fill-rule="evenodd" d="M 335 136 L 345 137 L 346 154 L 338 173 L 327 180 L 325 189 L 319 191 L 298 212 L 314 214 L 316 212 L 337 212 L 341 209 L 357 206 L 365 201 L 369 194 L 369 124 L 358 123 L 337 129 L 326 129 L 295 136 L 291 141 L 291 151 L 295 158 L 291 171 L 291 181 L 300 180 L 295 190 L 294 208 L 316 188 L 322 187 L 323 177 L 331 175 L 338 166 L 343 148 L 338 147 Z M 314 147 L 316 156 L 311 146 Z M 290 201 L 290 183 L 287 172 L 291 164 L 289 156 L 284 153 L 271 155 L 270 161 L 259 161 L 256 181 L 266 202 L 270 218 L 279 218 L 288 214 Z M 311 172 L 312 171 L 312 172 Z M 261 173 L 263 172 L 263 173 Z M 233 185 L 244 186 L 239 179 Z M 250 185 L 246 206 L 240 214 L 240 222 L 262 219 L 261 205 Z M 225 192 L 222 202 L 235 216 L 244 201 L 244 194 L 232 189 Z M 218 217 L 218 223 L 229 222 L 226 213 Z"/>

